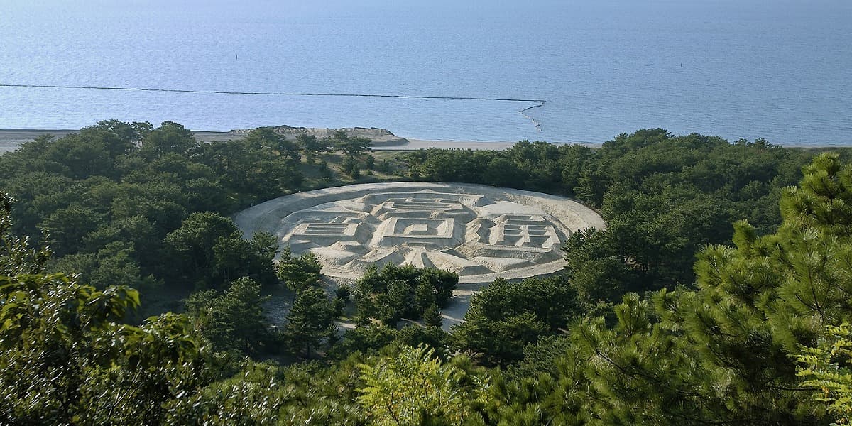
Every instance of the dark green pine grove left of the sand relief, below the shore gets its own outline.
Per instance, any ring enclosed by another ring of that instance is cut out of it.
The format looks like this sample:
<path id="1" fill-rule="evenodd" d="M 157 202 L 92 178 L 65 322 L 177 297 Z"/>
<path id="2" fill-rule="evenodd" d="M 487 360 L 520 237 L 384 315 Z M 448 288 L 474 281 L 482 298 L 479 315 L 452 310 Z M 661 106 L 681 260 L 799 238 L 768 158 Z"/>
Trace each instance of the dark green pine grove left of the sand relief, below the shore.
<path id="1" fill-rule="evenodd" d="M 209 240 L 198 235 L 203 244 L 194 250 L 191 232 L 178 229 L 193 212 L 223 217 L 295 191 L 302 175 L 289 143 L 257 130 L 240 141 L 199 144 L 180 124 L 118 120 L 40 137 L 0 157 L 0 187 L 19 199 L 9 232 L 49 244 L 51 270 L 81 273 L 98 288 L 131 285 L 153 300 L 246 275 L 271 284 L 267 237 L 244 241 L 220 229 Z M 170 243 L 180 244 L 166 243 L 170 233 Z"/>

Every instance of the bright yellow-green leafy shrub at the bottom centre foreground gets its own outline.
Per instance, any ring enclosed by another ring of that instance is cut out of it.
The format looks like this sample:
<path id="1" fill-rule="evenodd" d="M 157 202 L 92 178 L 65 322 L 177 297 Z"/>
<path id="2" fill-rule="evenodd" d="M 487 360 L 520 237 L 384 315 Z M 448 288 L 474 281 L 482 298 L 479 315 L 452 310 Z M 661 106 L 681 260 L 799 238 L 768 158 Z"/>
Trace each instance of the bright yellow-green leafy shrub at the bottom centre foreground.
<path id="1" fill-rule="evenodd" d="M 489 384 L 482 377 L 465 377 L 463 371 L 432 358 L 434 349 L 403 346 L 395 357 L 361 364 L 358 402 L 377 425 L 415 425 L 440 419 L 463 424 L 475 415 L 471 406 L 487 402 Z M 465 392 L 463 380 L 473 389 Z"/>

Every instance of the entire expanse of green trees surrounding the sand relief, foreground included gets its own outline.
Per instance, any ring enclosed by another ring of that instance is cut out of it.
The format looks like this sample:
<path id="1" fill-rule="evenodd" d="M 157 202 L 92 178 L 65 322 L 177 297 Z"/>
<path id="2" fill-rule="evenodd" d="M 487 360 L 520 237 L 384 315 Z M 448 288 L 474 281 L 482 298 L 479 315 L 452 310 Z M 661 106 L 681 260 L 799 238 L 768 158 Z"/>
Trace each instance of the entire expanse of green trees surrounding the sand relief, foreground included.
<path id="1" fill-rule="evenodd" d="M 332 184 L 316 160 L 367 161 L 276 137 L 110 121 L 0 157 L 0 423 L 849 420 L 848 151 L 639 130 L 400 154 L 395 179 L 573 196 L 607 222 L 447 333 L 452 273 L 376 268 L 328 295 L 315 258 L 243 238 L 233 212 Z"/>

